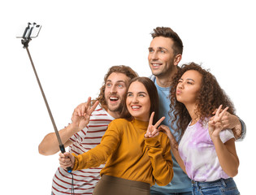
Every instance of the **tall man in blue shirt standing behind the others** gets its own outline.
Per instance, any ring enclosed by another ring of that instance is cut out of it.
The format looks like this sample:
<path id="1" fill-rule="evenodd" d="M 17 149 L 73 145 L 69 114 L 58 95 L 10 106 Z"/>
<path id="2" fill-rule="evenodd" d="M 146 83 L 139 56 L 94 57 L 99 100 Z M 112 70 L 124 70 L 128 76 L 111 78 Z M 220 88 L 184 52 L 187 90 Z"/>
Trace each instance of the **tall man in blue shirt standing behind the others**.
<path id="1" fill-rule="evenodd" d="M 165 116 L 162 124 L 167 125 L 171 129 L 170 115 L 170 99 L 169 92 L 171 89 L 171 79 L 178 71 L 178 63 L 182 58 L 183 43 L 176 32 L 171 28 L 157 27 L 151 33 L 153 40 L 150 43 L 148 60 L 152 76 L 150 79 L 154 81 L 158 89 L 159 96 L 159 116 Z M 172 113 L 171 113 L 172 115 Z M 236 115 L 227 114 L 223 119 L 224 128 L 232 128 L 235 137 L 243 139 L 245 137 L 245 124 Z M 176 140 L 180 135 L 174 134 Z M 181 170 L 176 159 L 171 154 L 173 160 L 174 176 L 170 184 L 166 186 L 158 186 L 155 184 L 151 187 L 150 194 L 159 195 L 191 195 L 191 180 Z"/>

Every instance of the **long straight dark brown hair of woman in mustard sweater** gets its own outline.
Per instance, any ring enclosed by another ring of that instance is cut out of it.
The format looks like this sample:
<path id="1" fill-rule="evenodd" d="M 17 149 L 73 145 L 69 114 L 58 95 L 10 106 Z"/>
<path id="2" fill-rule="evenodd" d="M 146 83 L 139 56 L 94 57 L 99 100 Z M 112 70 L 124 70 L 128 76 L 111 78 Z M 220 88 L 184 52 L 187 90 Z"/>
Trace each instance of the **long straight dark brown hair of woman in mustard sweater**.
<path id="1" fill-rule="evenodd" d="M 132 80 L 130 80 L 130 83 L 128 85 L 128 89 L 130 87 L 130 85 L 135 82 L 138 81 L 140 82 L 142 85 L 145 86 L 145 89 L 147 91 L 147 93 L 149 94 L 150 97 L 150 115 L 152 112 L 154 112 L 154 119 L 153 119 L 153 124 L 155 124 L 158 121 L 158 90 L 156 89 L 154 82 L 152 80 L 150 80 L 148 77 L 136 77 L 133 78 Z M 125 102 L 126 102 L 126 98 L 127 95 L 125 96 Z M 124 119 L 128 119 L 128 120 L 132 120 L 133 117 L 132 115 L 130 115 L 130 113 L 128 112 L 127 106 L 124 106 L 124 109 L 120 115 L 120 118 L 124 118 Z"/>

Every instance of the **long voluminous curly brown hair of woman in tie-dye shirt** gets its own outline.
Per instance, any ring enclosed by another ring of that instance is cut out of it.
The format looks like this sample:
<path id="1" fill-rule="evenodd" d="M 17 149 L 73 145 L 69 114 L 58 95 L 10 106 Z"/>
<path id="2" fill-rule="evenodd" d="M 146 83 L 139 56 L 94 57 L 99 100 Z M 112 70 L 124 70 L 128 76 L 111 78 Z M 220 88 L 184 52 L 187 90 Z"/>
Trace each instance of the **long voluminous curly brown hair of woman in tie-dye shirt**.
<path id="1" fill-rule="evenodd" d="M 179 133 L 180 138 L 183 136 L 185 129 L 188 127 L 191 117 L 184 104 L 177 101 L 176 87 L 180 77 L 184 74 L 184 72 L 189 70 L 197 71 L 202 75 L 201 89 L 196 100 L 196 114 L 199 117 L 201 124 L 206 121 L 206 118 L 212 116 L 212 113 L 220 105 L 223 105 L 223 108 L 228 106 L 228 112 L 232 115 L 235 114 L 235 108 L 232 101 L 228 98 L 228 95 L 223 91 L 223 89 L 220 88 L 215 76 L 203 69 L 197 63 L 184 64 L 178 69 L 178 72 L 174 76 L 171 82 L 170 90 L 171 110 L 169 111 L 169 115 L 171 116 L 171 112 L 174 114 L 174 117 L 171 119 L 171 127 L 174 128 L 174 124 L 177 121 L 177 128 L 174 129 L 176 129 L 176 132 Z"/>

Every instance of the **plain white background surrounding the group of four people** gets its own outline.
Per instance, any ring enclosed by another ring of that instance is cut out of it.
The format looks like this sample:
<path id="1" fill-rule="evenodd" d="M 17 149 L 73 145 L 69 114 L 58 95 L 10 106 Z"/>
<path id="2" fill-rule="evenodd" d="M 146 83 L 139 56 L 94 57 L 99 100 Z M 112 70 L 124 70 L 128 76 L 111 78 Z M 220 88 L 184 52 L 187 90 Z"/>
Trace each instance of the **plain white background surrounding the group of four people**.
<path id="1" fill-rule="evenodd" d="M 254 1 L 81 1 L 0 2 L 1 194 L 50 194 L 58 154 L 41 156 L 37 146 L 54 128 L 26 50 L 16 39 L 20 25 L 41 24 L 28 49 L 57 127 L 73 109 L 98 96 L 112 65 L 128 65 L 149 76 L 150 32 L 173 28 L 184 43 L 182 63 L 202 63 L 232 98 L 247 125 L 236 143 L 235 177 L 241 194 L 253 194 L 255 154 Z"/>

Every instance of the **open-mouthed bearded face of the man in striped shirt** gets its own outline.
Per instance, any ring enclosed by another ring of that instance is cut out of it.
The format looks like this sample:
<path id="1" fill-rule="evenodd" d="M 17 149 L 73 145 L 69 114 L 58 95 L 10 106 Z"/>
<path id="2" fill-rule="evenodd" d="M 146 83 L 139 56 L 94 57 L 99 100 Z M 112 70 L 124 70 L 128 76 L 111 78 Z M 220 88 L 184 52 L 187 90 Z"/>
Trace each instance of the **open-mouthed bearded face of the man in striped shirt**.
<path id="1" fill-rule="evenodd" d="M 113 72 L 106 80 L 105 98 L 107 112 L 114 116 L 116 112 L 122 111 L 124 106 L 124 96 L 127 91 L 127 86 L 130 78 L 123 73 Z"/>

